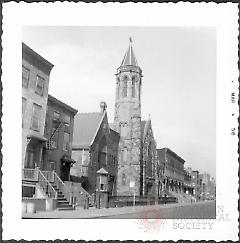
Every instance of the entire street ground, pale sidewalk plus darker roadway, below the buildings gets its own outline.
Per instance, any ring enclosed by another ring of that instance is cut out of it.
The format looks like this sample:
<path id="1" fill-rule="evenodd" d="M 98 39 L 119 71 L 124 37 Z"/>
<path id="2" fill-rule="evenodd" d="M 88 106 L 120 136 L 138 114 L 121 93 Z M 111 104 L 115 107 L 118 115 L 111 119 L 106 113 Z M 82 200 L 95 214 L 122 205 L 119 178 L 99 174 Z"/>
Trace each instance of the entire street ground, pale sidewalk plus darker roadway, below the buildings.
<path id="1" fill-rule="evenodd" d="M 78 208 L 70 211 L 44 211 L 25 213 L 23 218 L 109 218 L 109 219 L 153 219 L 153 218 L 215 218 L 216 202 L 197 202 L 193 204 L 161 204 L 121 208 Z"/>

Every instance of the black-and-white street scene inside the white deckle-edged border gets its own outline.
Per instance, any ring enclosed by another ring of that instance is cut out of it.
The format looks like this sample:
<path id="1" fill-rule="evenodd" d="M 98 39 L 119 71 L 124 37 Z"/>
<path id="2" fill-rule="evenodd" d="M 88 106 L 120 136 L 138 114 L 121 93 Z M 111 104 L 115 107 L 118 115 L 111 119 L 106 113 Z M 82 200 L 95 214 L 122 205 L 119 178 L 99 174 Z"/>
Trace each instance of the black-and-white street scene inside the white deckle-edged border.
<path id="1" fill-rule="evenodd" d="M 215 28 L 30 26 L 22 58 L 24 218 L 216 217 Z"/>

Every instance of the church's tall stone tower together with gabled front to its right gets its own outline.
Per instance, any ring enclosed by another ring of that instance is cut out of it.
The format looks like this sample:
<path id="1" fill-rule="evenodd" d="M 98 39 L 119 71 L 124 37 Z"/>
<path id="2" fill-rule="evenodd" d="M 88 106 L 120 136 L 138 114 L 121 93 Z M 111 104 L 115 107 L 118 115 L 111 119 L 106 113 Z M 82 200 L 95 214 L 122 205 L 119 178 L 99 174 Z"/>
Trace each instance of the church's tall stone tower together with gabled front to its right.
<path id="1" fill-rule="evenodd" d="M 117 196 L 157 193 L 156 142 L 151 119 L 141 119 L 142 70 L 132 43 L 116 73 L 113 129 L 119 133 Z"/>

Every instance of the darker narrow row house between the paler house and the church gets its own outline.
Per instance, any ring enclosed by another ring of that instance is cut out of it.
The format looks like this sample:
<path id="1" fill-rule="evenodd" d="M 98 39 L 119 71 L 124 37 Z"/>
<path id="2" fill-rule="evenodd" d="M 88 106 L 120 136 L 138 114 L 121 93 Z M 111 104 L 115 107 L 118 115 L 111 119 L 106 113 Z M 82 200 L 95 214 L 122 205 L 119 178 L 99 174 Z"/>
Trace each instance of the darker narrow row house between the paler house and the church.
<path id="1" fill-rule="evenodd" d="M 70 180 L 74 116 L 77 110 L 48 95 L 42 170 L 55 170 L 63 181 Z"/>

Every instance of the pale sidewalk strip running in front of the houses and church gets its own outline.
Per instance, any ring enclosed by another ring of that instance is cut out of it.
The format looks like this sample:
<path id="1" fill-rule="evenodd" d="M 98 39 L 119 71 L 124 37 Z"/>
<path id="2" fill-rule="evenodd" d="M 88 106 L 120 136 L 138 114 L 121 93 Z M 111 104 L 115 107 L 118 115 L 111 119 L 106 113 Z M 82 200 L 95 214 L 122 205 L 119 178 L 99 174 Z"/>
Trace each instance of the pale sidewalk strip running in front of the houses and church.
<path id="1" fill-rule="evenodd" d="M 200 204 L 204 202 L 197 202 L 192 204 Z M 131 214 L 131 213 L 138 213 L 144 212 L 148 210 L 160 210 L 162 208 L 174 208 L 174 207 L 182 207 L 186 205 L 192 205 L 191 203 L 184 203 L 184 204 L 160 204 L 160 205 L 149 205 L 149 206 L 132 206 L 132 207 L 120 207 L 120 208 L 77 208 L 76 210 L 71 211 L 44 211 L 44 212 L 37 212 L 37 213 L 24 213 L 22 214 L 22 218 L 99 218 L 103 216 L 117 216 L 121 214 Z"/>

